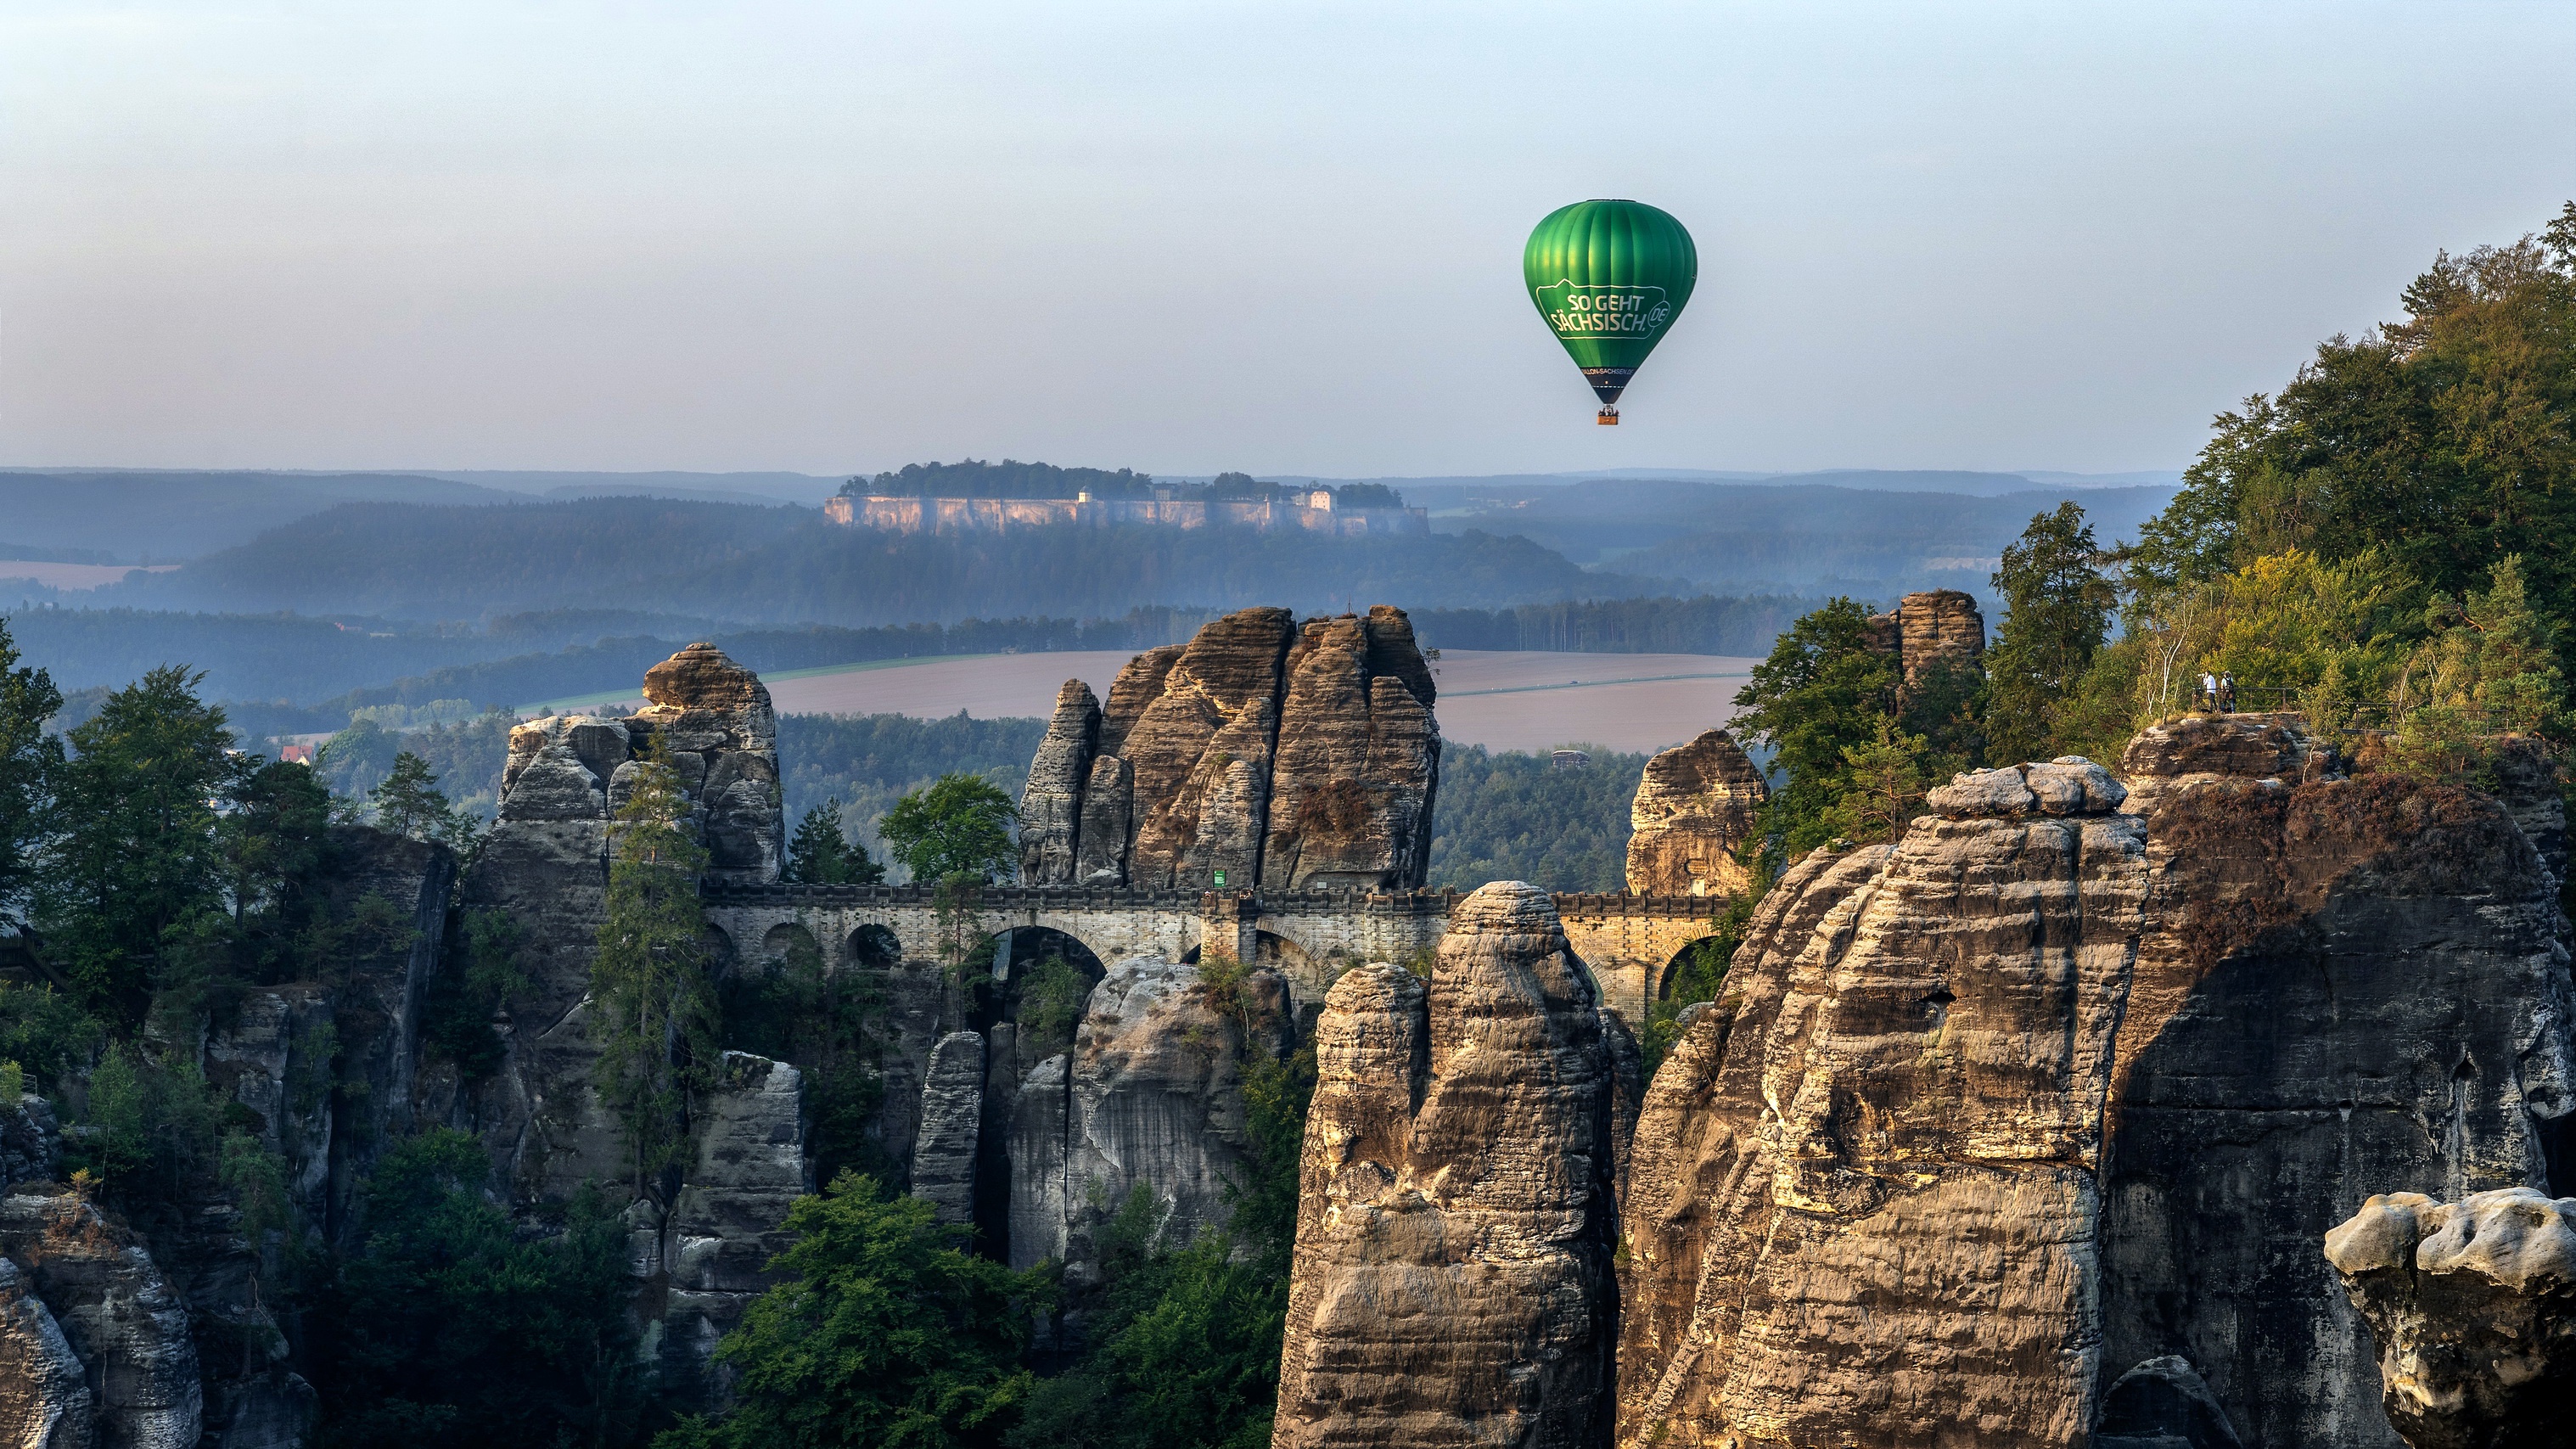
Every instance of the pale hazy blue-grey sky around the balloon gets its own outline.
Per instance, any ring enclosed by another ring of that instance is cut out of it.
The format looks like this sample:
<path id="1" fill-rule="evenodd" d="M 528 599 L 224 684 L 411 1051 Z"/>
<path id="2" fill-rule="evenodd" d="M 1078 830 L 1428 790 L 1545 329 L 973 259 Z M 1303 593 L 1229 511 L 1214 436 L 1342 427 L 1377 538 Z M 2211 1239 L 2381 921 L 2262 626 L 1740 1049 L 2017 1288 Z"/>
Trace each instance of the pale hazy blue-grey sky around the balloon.
<path id="1" fill-rule="evenodd" d="M 1623 428 L 1520 294 L 1633 196 Z M 2576 196 L 2576 5 L 0 3 L 0 462 L 2182 467 Z"/>

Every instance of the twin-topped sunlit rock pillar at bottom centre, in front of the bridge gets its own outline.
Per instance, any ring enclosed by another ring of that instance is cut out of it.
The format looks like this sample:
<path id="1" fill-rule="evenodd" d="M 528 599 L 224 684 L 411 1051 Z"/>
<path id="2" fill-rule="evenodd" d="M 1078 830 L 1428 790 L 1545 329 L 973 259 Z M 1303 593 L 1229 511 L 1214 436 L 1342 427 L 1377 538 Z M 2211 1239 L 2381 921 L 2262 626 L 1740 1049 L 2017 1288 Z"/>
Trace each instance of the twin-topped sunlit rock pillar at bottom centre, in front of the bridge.
<path id="1" fill-rule="evenodd" d="M 1551 900 L 1450 915 L 1316 1021 L 1273 1444 L 1595 1444 L 1610 1390 L 1613 1060 Z"/>

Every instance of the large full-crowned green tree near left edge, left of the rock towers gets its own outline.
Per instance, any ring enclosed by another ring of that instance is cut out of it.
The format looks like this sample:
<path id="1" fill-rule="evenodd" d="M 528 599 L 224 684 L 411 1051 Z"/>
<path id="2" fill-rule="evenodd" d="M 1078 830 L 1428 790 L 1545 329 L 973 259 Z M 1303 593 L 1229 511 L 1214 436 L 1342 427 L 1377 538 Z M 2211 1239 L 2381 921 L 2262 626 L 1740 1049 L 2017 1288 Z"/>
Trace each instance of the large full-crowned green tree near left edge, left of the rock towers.
<path id="1" fill-rule="evenodd" d="M 160 977 L 229 918 L 216 810 L 240 768 L 198 678 L 157 668 L 118 688 L 67 732 L 54 771 L 33 918 L 72 993 L 116 1026 L 139 1024 Z"/>

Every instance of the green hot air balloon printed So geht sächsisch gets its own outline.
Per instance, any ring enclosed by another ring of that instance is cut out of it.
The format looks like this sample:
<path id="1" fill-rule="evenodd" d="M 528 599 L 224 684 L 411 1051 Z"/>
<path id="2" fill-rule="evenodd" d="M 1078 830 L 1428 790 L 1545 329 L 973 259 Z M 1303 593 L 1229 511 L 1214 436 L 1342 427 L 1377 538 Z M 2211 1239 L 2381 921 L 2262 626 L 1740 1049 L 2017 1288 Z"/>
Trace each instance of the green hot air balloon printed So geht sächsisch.
<path id="1" fill-rule="evenodd" d="M 1620 389 L 1690 302 L 1700 250 L 1669 211 L 1643 201 L 1577 201 L 1530 232 L 1520 276 L 1613 425 Z"/>

